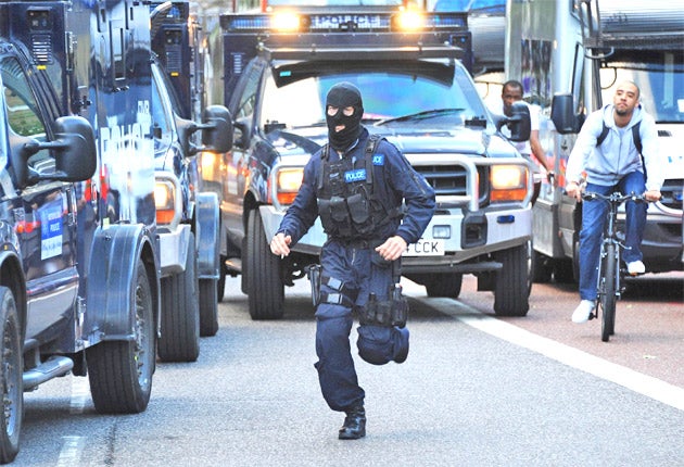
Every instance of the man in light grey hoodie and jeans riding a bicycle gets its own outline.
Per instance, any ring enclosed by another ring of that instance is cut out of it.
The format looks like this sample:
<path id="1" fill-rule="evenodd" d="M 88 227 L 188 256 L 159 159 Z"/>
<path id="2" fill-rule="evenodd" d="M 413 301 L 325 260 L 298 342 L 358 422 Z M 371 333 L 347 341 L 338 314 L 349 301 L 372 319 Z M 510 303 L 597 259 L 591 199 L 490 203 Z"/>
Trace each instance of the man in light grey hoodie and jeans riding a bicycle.
<path id="1" fill-rule="evenodd" d="M 636 130 L 633 127 L 636 126 Z M 641 146 L 641 151 L 638 147 Z M 641 153 L 639 153 L 641 152 Z M 587 118 L 568 159 L 566 191 L 582 201 L 582 182 L 586 191 L 608 194 L 643 193 L 648 201 L 660 199 L 663 182 L 661 167 L 666 160 L 658 152 L 658 131 L 654 118 L 639 104 L 639 89 L 632 81 L 616 88 L 611 104 L 604 105 Z M 646 203 L 625 204 L 624 262 L 630 275 L 646 272 L 639 249 L 646 226 Z M 573 323 L 585 323 L 594 311 L 598 261 L 608 206 L 600 200 L 584 203 L 580 231 L 580 299 L 572 314 Z"/>

